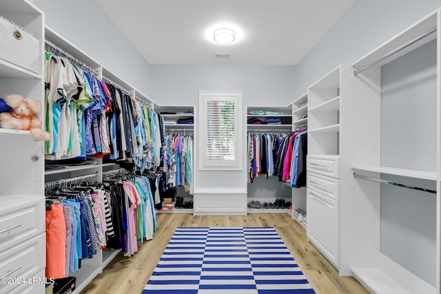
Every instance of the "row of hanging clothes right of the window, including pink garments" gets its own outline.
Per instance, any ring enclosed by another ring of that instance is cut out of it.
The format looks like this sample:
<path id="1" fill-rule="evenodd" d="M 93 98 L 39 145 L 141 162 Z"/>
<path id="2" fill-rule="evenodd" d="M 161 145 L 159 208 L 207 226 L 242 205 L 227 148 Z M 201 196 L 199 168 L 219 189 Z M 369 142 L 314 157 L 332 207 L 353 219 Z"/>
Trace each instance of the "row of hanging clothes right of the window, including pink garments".
<path id="1" fill-rule="evenodd" d="M 307 129 L 277 133 L 249 132 L 248 182 L 258 176 L 277 176 L 291 187 L 306 186 Z"/>

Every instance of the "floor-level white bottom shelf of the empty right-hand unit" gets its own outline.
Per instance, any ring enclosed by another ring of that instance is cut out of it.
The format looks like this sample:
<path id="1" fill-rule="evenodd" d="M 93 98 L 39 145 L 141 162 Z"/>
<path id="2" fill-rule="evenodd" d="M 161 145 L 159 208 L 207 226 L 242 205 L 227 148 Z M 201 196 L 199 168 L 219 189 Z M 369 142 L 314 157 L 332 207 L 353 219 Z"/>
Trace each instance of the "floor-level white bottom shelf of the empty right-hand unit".
<path id="1" fill-rule="evenodd" d="M 371 293 L 411 294 L 384 271 L 373 267 L 352 268 L 353 276 Z"/>

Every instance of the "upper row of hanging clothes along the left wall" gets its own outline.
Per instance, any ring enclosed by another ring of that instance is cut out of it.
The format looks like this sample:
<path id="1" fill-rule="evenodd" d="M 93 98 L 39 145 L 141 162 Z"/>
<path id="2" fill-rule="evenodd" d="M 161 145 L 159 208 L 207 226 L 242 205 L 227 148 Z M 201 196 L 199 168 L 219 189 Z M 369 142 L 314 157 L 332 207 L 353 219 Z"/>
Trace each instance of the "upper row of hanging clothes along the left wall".
<path id="1" fill-rule="evenodd" d="M 46 50 L 45 126 L 51 139 L 45 158 L 126 160 L 141 170 L 160 166 L 162 116 L 57 46 L 46 42 Z"/>

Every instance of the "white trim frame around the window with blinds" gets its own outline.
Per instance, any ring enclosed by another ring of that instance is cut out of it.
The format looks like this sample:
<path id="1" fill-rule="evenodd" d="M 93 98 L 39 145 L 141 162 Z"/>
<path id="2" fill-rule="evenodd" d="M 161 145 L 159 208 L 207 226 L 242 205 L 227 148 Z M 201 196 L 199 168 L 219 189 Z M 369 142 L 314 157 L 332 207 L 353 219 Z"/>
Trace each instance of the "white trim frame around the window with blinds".
<path id="1" fill-rule="evenodd" d="M 234 160 L 209 160 L 206 150 L 206 125 L 205 118 L 206 101 L 225 99 L 235 102 L 235 145 Z M 201 170 L 242 170 L 243 169 L 243 98 L 242 91 L 200 91 L 199 92 L 199 169 Z"/>

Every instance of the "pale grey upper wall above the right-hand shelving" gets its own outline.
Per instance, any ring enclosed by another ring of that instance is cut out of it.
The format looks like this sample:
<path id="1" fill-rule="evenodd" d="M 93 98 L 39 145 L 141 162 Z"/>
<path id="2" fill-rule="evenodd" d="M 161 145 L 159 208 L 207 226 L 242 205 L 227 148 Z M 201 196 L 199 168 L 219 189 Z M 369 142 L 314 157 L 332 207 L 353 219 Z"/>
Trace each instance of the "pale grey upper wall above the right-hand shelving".
<path id="1" fill-rule="evenodd" d="M 440 0 L 356 0 L 296 66 L 296 96 L 338 65 L 360 59 L 440 6 Z"/>

